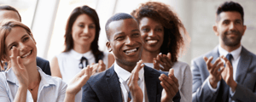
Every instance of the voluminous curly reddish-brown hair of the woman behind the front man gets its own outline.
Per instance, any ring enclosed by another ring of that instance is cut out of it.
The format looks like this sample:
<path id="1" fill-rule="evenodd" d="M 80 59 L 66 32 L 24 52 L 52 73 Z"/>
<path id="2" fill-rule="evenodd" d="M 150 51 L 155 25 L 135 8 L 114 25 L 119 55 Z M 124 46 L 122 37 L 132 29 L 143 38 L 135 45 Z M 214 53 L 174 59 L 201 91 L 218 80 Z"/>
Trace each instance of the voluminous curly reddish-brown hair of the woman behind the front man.
<path id="1" fill-rule="evenodd" d="M 183 52 L 185 47 L 185 39 L 180 31 L 183 31 L 184 37 L 189 40 L 189 34 L 181 20 L 178 19 L 177 14 L 164 3 L 148 2 L 143 3 L 139 8 L 132 11 L 131 15 L 137 19 L 138 23 L 143 17 L 160 22 L 164 27 L 164 41 L 160 47 L 160 53 L 168 54 L 170 52 L 172 54 L 172 62 L 176 62 L 178 54 Z"/>

